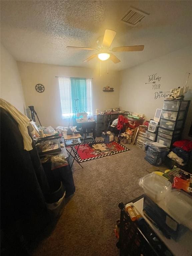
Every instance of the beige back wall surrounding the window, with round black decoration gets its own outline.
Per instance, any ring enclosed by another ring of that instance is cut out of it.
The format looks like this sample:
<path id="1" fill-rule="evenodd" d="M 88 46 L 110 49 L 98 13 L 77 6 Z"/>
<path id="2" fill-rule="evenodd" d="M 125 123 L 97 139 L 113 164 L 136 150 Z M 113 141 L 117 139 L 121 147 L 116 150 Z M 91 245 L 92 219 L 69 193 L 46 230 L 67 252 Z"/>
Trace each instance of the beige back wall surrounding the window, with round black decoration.
<path id="1" fill-rule="evenodd" d="M 59 96 L 58 78 L 55 76 L 85 77 L 93 78 L 93 110 L 98 108 L 101 111 L 119 105 L 119 74 L 111 71 L 109 74 L 102 70 L 100 77 L 99 70 L 87 68 L 65 67 L 48 64 L 18 62 L 21 75 L 26 106 L 33 105 L 44 126 L 66 125 L 67 122 L 61 118 L 61 105 Z M 36 84 L 43 84 L 45 91 L 38 93 L 35 90 Z M 114 92 L 106 93 L 104 86 L 114 88 Z"/>

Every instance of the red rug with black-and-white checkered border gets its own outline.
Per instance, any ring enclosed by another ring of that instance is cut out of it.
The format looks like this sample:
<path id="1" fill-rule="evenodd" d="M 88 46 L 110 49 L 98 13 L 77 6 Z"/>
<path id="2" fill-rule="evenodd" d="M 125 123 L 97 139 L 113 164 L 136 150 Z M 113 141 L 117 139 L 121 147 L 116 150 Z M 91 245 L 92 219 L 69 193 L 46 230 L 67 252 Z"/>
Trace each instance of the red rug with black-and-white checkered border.
<path id="1" fill-rule="evenodd" d="M 73 146 L 73 151 L 75 153 L 77 152 L 77 148 L 78 146 Z M 117 143 L 116 141 L 105 144 L 102 140 L 98 140 L 95 142 L 85 143 L 85 145 L 82 143 L 79 146 L 76 157 L 78 162 L 82 163 L 105 156 L 119 154 L 129 150 L 130 149 Z"/>

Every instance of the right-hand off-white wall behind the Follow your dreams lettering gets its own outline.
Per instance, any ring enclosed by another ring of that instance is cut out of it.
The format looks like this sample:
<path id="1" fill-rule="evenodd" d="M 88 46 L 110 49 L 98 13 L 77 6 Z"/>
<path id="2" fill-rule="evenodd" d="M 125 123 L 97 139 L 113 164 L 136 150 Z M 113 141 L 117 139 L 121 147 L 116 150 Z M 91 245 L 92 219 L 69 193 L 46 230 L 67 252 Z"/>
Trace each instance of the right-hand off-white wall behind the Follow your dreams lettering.
<path id="1" fill-rule="evenodd" d="M 192 48 L 172 52 L 160 58 L 148 61 L 136 67 L 121 72 L 122 83 L 120 86 L 119 104 L 130 112 L 143 113 L 146 119 L 154 117 L 156 108 L 162 108 L 163 100 L 172 88 L 182 87 L 187 80 L 187 72 L 192 73 Z M 158 80 L 150 80 L 152 74 L 156 74 Z M 156 83 L 151 83 L 156 81 Z M 157 89 L 155 85 L 157 84 Z M 188 86 L 192 90 L 192 74 L 188 80 Z M 155 95 L 157 96 L 155 99 Z M 192 122 L 192 103 L 188 112 L 184 134 L 188 134 Z"/>

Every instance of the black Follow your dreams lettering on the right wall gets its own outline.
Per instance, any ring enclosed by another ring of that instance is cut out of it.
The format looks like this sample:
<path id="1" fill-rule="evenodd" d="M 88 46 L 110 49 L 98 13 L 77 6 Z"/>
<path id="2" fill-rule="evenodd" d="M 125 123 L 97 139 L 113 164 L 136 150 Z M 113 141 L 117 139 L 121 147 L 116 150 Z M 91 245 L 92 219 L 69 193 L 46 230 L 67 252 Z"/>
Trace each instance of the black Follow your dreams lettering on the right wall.
<path id="1" fill-rule="evenodd" d="M 152 90 L 158 90 L 156 92 L 154 92 L 154 99 L 158 99 L 158 98 L 167 98 L 169 96 L 169 94 L 164 93 L 161 88 L 161 78 L 162 76 L 159 76 L 157 73 L 153 73 L 151 75 L 148 75 L 148 80 L 145 84 L 150 84 L 152 85 L 151 89 Z"/>

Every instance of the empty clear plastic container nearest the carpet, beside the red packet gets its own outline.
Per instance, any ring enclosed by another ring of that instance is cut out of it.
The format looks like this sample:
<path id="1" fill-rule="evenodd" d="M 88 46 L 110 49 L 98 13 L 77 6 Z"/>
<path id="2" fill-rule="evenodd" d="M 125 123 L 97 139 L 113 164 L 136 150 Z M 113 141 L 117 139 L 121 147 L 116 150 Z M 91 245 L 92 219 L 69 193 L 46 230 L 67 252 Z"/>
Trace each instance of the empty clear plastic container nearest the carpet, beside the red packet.
<path id="1" fill-rule="evenodd" d="M 154 202 L 163 200 L 171 190 L 171 182 L 153 172 L 140 178 L 139 185 Z"/>

